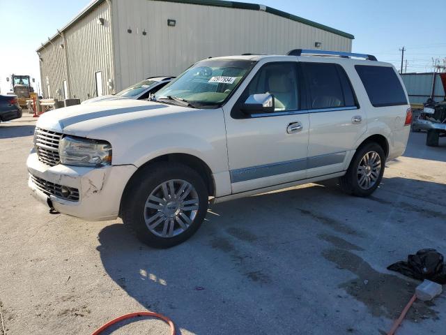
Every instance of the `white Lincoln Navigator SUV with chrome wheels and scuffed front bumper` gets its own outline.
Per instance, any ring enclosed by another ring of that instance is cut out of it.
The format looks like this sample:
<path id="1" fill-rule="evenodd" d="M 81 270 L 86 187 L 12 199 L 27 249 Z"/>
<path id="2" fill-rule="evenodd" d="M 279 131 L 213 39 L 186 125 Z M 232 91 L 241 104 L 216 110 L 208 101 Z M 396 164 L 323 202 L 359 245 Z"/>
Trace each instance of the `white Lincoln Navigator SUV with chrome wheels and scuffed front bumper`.
<path id="1" fill-rule="evenodd" d="M 169 247 L 197 231 L 209 202 L 334 177 L 370 195 L 406 149 L 411 119 L 397 71 L 371 55 L 205 59 L 150 101 L 43 114 L 29 187 L 54 211 L 120 216 L 141 241 Z"/>

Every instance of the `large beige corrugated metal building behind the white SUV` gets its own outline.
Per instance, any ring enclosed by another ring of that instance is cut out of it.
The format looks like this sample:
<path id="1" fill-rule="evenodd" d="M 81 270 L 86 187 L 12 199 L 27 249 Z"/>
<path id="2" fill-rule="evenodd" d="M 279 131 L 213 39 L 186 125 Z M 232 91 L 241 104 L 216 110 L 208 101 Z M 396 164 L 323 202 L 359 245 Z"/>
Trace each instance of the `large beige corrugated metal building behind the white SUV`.
<path id="1" fill-rule="evenodd" d="M 37 50 L 45 97 L 113 94 L 194 62 L 294 48 L 351 51 L 354 36 L 268 6 L 221 0 L 94 0 Z"/>

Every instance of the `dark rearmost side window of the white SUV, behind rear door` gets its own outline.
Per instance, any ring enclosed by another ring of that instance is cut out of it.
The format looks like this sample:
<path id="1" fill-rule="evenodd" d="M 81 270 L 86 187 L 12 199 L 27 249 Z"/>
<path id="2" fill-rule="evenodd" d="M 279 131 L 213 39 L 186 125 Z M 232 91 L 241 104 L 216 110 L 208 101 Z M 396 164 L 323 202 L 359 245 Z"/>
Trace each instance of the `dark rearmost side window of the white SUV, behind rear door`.
<path id="1" fill-rule="evenodd" d="M 393 68 L 369 65 L 355 68 L 374 107 L 407 105 L 406 94 Z"/>

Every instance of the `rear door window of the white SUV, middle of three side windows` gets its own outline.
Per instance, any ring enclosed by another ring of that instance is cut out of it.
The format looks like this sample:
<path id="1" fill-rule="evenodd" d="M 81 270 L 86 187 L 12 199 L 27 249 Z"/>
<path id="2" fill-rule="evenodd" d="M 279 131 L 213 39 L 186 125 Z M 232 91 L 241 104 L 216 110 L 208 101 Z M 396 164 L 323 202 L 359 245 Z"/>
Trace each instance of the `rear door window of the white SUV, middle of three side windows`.
<path id="1" fill-rule="evenodd" d="M 307 77 L 309 109 L 355 106 L 351 84 L 338 64 L 302 63 Z"/>

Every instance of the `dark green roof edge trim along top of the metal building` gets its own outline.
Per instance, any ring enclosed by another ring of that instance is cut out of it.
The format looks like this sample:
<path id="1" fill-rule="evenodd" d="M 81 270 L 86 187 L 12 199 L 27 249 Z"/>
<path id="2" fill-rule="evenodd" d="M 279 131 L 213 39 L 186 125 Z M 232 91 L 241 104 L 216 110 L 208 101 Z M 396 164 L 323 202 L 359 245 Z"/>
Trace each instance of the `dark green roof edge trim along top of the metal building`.
<path id="1" fill-rule="evenodd" d="M 329 31 L 330 33 L 337 34 L 339 36 L 344 36 L 346 38 L 350 38 L 351 40 L 353 40 L 355 38 L 355 36 L 353 36 L 352 34 L 348 34 L 345 31 L 340 31 L 338 29 L 334 29 L 332 27 L 325 26 L 324 24 L 320 24 L 318 22 L 307 20 L 307 19 L 304 19 L 303 17 L 293 15 L 290 13 L 286 13 L 282 10 L 278 10 L 278 9 L 275 9 L 272 7 L 258 5 L 256 3 L 245 3 L 245 2 L 238 2 L 238 1 L 223 1 L 223 0 L 155 0 L 155 1 L 190 3 L 190 4 L 202 5 L 202 6 L 240 8 L 240 9 L 248 9 L 248 10 L 264 10 L 266 13 L 285 17 L 286 19 L 300 22 L 303 24 L 307 24 L 309 26 L 312 26 L 312 27 L 315 27 L 318 29 L 322 29 L 325 31 Z"/>

